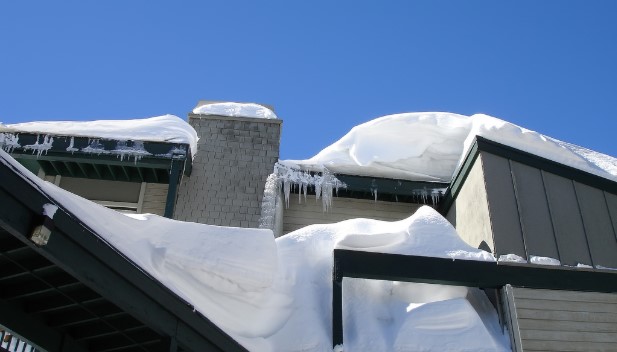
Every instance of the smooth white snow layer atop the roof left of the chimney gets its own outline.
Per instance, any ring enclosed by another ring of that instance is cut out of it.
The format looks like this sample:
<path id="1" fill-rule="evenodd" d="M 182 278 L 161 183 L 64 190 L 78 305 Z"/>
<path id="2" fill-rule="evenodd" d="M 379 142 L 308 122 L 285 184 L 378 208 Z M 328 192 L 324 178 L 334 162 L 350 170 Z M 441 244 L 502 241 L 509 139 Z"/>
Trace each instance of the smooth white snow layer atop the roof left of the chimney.
<path id="1" fill-rule="evenodd" d="M 175 115 L 132 120 L 37 121 L 5 125 L 16 132 L 81 136 L 116 140 L 182 143 L 197 153 L 197 132 Z"/>

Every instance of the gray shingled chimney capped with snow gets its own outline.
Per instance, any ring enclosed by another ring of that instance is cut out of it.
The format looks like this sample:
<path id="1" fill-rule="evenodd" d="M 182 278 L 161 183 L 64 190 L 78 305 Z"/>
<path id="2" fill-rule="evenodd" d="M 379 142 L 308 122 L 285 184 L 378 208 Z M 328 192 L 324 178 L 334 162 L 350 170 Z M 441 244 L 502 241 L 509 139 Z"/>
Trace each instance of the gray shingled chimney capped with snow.
<path id="1" fill-rule="evenodd" d="M 189 124 L 197 154 L 178 189 L 174 218 L 235 227 L 259 227 L 268 175 L 279 159 L 282 120 L 253 103 L 199 101 Z"/>

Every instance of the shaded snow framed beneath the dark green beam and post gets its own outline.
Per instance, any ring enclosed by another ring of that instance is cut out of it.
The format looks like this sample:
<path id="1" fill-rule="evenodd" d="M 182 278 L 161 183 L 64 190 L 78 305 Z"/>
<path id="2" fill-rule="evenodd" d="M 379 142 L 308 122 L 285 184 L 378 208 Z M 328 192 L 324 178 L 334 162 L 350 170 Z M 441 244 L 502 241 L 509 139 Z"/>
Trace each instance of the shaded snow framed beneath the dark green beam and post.
<path id="1" fill-rule="evenodd" d="M 359 279 L 343 285 L 343 301 L 352 305 L 343 322 L 348 351 L 507 350 L 497 314 L 477 288 Z"/>

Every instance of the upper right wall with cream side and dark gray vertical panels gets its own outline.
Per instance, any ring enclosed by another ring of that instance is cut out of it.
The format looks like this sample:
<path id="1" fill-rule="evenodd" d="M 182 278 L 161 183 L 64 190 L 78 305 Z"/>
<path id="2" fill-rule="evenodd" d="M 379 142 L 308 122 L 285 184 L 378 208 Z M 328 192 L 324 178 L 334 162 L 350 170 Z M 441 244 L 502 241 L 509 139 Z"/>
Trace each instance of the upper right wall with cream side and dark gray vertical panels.
<path id="1" fill-rule="evenodd" d="M 576 175 L 479 153 L 445 214 L 461 238 L 474 247 L 485 241 L 497 257 L 617 268 L 617 195 Z"/>

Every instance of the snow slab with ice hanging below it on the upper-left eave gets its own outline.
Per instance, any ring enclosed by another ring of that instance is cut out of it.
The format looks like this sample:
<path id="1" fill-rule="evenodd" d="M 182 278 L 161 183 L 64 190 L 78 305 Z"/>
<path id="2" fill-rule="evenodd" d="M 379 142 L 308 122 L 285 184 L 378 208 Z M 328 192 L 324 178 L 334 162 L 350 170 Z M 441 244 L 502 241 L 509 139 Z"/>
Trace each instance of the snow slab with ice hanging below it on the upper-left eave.
<path id="1" fill-rule="evenodd" d="M 19 133 L 27 132 L 42 136 L 41 144 L 28 146 L 38 153 L 45 151 L 44 143 L 46 139 L 51 138 L 50 136 L 92 138 L 90 147 L 94 153 L 97 152 L 96 141 L 98 139 L 136 142 L 136 146 L 119 145 L 116 148 L 116 154 L 121 157 L 142 155 L 144 151 L 139 148 L 140 141 L 188 144 L 192 155 L 197 153 L 197 132 L 186 121 L 174 115 L 133 120 L 39 121 L 0 127 L 0 146 L 6 151 L 20 147 Z M 88 150 L 82 151 L 88 152 Z"/>

